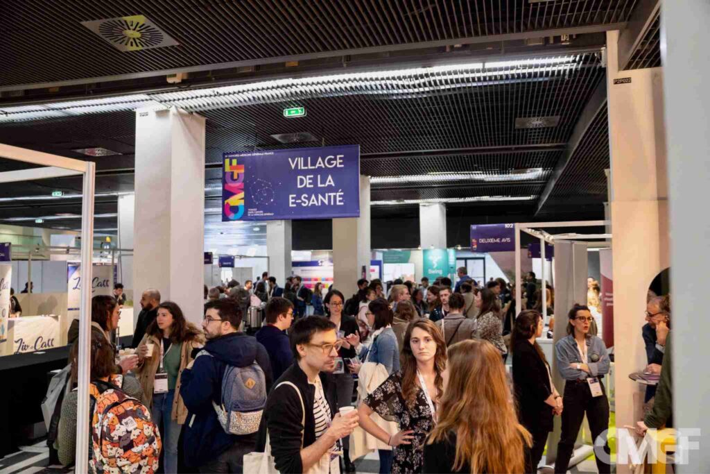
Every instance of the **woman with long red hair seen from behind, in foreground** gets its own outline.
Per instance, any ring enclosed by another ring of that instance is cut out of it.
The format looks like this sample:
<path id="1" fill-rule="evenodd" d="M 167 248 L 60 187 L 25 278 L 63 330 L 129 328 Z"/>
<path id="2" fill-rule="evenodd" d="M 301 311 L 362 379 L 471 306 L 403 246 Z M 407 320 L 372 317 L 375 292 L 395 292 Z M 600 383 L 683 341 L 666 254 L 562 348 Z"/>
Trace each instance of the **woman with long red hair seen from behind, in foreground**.
<path id="1" fill-rule="evenodd" d="M 501 352 L 484 340 L 449 348 L 425 473 L 529 473 L 530 433 L 518 423 Z"/>

